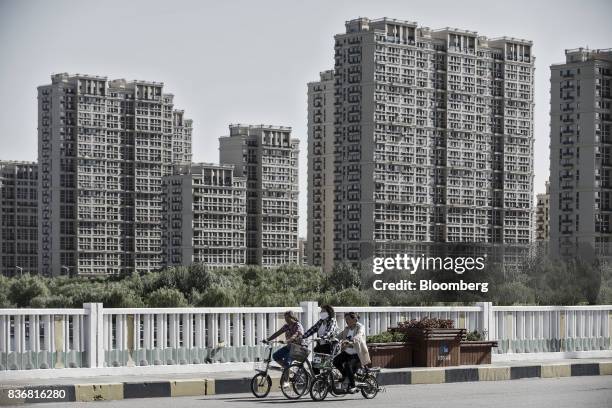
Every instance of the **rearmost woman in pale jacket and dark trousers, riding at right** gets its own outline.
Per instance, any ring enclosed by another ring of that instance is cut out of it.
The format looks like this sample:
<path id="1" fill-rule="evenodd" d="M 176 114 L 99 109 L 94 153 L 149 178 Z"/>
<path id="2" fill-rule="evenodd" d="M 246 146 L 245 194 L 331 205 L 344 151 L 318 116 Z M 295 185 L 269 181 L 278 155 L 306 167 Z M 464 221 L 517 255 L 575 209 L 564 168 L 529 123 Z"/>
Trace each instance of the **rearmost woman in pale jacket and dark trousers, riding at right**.
<path id="1" fill-rule="evenodd" d="M 347 393 L 357 392 L 355 388 L 355 371 L 359 365 L 370 364 L 370 353 L 366 345 L 365 328 L 359 323 L 359 315 L 349 312 L 344 315 L 346 327 L 338 336 L 342 352 L 334 358 L 334 366 L 348 378 Z"/>

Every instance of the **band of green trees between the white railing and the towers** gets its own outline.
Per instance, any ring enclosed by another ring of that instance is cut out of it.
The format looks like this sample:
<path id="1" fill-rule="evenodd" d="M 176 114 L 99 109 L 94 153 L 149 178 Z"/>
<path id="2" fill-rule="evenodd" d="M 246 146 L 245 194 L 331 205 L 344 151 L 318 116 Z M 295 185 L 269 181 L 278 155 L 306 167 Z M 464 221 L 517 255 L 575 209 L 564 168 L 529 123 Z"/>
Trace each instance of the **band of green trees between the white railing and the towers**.
<path id="1" fill-rule="evenodd" d="M 335 306 L 417 306 L 490 301 L 497 305 L 578 305 L 612 303 L 612 271 L 581 259 L 554 261 L 535 254 L 512 272 L 491 265 L 462 279 L 486 280 L 487 293 L 376 291 L 371 272 L 347 264 L 329 274 L 311 266 L 211 269 L 202 264 L 171 267 L 143 275 L 42 277 L 0 276 L 1 308 L 295 306 L 315 300 Z M 401 278 L 388 275 L 387 279 Z M 406 276 L 415 279 L 414 276 Z M 457 279 L 448 276 L 444 279 Z"/>

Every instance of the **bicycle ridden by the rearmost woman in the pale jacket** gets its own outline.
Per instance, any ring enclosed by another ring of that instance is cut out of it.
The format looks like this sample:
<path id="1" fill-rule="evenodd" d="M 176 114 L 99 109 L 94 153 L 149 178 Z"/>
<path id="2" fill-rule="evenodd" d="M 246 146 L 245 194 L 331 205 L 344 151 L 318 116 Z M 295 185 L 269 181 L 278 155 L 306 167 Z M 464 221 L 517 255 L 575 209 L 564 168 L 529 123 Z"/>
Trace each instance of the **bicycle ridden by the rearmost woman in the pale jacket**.
<path id="1" fill-rule="evenodd" d="M 355 387 L 361 391 L 361 395 L 366 399 L 376 397 L 381 390 L 376 377 L 380 368 L 361 367 L 355 373 Z M 341 377 L 340 377 L 341 378 Z M 325 366 L 321 373 L 315 377 L 310 387 L 310 398 L 314 401 L 323 401 L 328 393 L 332 395 L 348 394 L 345 385 L 334 375 L 333 363 Z"/>

